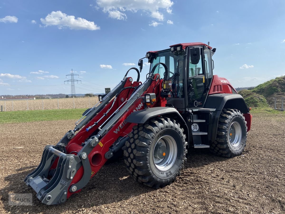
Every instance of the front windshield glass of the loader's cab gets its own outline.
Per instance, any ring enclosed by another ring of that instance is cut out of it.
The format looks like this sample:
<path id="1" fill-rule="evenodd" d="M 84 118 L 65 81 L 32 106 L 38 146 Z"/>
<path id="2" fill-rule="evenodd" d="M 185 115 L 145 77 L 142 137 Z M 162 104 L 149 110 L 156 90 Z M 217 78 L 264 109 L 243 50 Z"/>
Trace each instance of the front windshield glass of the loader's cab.
<path id="1" fill-rule="evenodd" d="M 167 74 L 165 73 L 164 67 L 161 64 L 156 67 L 154 74 L 159 74 L 160 78 L 171 79 L 172 89 L 175 92 L 174 97 L 180 98 L 184 97 L 184 53 L 185 52 L 183 51 L 174 53 L 170 50 L 158 52 L 156 58 L 154 58 L 150 64 L 150 70 L 159 62 L 162 62 L 166 65 L 168 68 Z"/>

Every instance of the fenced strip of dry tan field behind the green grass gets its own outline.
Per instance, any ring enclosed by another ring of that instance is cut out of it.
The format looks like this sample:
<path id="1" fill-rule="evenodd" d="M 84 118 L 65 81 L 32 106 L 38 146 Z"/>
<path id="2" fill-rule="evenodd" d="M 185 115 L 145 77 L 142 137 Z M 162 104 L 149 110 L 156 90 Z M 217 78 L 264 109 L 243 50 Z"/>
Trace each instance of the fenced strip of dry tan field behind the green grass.
<path id="1" fill-rule="evenodd" d="M 99 102 L 97 96 L 53 99 L 0 100 L 0 111 L 91 108 Z"/>

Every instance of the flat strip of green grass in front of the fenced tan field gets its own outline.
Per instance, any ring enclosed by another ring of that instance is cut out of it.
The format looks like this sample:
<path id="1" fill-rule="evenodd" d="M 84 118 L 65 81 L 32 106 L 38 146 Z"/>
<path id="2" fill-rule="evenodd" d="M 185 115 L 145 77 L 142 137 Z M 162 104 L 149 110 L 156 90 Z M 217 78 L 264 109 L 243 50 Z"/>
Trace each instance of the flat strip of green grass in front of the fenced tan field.
<path id="1" fill-rule="evenodd" d="M 0 124 L 69 119 L 77 120 L 81 118 L 81 115 L 85 110 L 86 109 L 54 109 L 0 112 Z"/>

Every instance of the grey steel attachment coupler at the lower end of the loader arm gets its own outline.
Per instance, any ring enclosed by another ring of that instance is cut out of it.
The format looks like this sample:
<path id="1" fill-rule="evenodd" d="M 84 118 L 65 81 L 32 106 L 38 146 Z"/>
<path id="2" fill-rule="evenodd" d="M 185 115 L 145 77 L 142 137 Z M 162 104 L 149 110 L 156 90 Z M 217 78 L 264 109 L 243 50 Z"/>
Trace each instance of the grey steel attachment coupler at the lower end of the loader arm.
<path id="1" fill-rule="evenodd" d="M 36 191 L 36 196 L 42 203 L 47 205 L 64 203 L 70 195 L 68 192 L 76 192 L 81 189 L 79 186 L 70 185 L 78 169 L 82 165 L 86 165 L 83 162 L 89 161 L 86 154 L 83 154 L 83 157 L 85 159 L 73 154 L 65 154 L 60 152 L 56 146 L 48 145 L 44 148 L 40 164 L 25 178 L 24 182 Z M 82 162 L 82 160 L 84 161 Z M 52 169 L 53 165 L 56 165 L 54 169 Z M 87 172 L 88 170 L 85 171 L 85 173 Z M 90 176 L 87 173 L 86 177 L 90 179 Z M 88 181 L 86 180 L 84 183 L 88 183 Z"/>

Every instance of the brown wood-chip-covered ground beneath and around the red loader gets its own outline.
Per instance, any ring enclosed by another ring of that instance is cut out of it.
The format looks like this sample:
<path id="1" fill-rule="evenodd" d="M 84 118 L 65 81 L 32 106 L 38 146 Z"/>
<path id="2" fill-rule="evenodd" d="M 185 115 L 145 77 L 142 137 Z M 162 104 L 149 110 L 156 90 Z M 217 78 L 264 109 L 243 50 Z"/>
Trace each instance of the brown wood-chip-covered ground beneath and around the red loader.
<path id="1" fill-rule="evenodd" d="M 190 150 L 177 181 L 151 189 L 129 176 L 123 160 L 105 165 L 64 204 L 41 204 L 23 180 L 73 120 L 0 126 L 1 213 L 285 213 L 285 118 L 254 115 L 243 155 L 220 158 Z M 23 149 L 13 149 L 23 146 Z M 9 206 L 8 193 L 32 193 L 33 206 Z"/>

